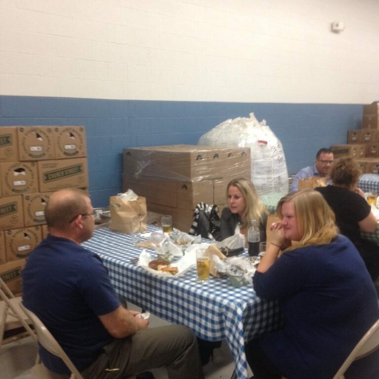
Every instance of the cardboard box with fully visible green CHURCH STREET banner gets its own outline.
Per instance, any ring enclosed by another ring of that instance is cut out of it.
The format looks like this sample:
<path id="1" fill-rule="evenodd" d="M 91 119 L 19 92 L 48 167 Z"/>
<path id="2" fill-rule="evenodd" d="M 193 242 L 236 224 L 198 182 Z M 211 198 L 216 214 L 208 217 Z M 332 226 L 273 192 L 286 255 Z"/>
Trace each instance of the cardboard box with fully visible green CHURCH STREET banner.
<path id="1" fill-rule="evenodd" d="M 38 162 L 39 191 L 88 187 L 86 158 L 43 160 Z"/>

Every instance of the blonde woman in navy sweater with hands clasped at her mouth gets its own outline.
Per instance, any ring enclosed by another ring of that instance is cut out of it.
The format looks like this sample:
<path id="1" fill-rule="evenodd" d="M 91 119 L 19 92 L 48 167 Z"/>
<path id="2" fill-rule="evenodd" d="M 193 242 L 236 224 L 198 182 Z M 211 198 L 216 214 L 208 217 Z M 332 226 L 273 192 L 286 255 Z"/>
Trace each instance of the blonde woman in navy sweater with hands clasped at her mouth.
<path id="1" fill-rule="evenodd" d="M 257 379 L 333 378 L 379 318 L 377 292 L 319 192 L 283 197 L 277 214 L 281 221 L 270 226 L 272 239 L 253 283 L 260 298 L 278 301 L 284 326 L 249 341 L 247 361 Z M 354 363 L 346 379 L 379 378 L 377 355 Z"/>

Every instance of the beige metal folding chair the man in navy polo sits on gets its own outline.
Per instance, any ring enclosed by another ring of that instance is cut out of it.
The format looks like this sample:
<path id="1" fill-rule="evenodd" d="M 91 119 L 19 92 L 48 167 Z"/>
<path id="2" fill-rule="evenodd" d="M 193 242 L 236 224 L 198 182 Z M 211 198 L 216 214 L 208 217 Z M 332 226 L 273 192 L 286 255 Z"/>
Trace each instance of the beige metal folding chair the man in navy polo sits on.
<path id="1" fill-rule="evenodd" d="M 31 319 L 34 329 L 37 333 L 38 342 L 51 354 L 56 355 L 61 358 L 66 366 L 71 371 L 70 379 L 83 379 L 80 375 L 79 371 L 74 366 L 71 359 L 67 356 L 67 354 L 63 351 L 60 344 L 57 340 L 52 336 L 52 334 L 46 329 L 43 325 L 42 321 L 37 317 L 37 315 L 26 308 L 23 303 L 20 303 L 21 309 L 25 312 L 25 314 Z M 36 379 L 57 379 L 57 378 L 67 378 L 67 376 L 62 376 L 55 374 L 49 371 L 42 363 L 38 363 L 36 366 L 32 367 L 30 370 L 32 375 Z"/>

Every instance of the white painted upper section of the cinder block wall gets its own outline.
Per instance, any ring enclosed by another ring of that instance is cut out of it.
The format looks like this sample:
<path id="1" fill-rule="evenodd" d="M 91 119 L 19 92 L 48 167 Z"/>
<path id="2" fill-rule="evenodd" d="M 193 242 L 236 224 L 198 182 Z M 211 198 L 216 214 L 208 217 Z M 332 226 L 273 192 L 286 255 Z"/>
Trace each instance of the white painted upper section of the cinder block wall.
<path id="1" fill-rule="evenodd" d="M 371 103 L 378 67 L 379 0 L 0 0 L 0 95 Z"/>

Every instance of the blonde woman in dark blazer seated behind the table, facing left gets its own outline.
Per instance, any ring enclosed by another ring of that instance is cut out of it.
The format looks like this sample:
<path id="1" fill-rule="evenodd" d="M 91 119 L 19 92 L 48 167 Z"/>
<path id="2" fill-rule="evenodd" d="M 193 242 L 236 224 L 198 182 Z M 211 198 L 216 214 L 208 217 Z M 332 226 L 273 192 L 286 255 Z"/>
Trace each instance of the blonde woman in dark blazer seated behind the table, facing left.
<path id="1" fill-rule="evenodd" d="M 265 241 L 267 211 L 253 183 L 246 178 L 231 180 L 227 185 L 227 207 L 221 215 L 221 238 L 245 234 L 252 220 L 261 230 L 261 241 Z"/>

